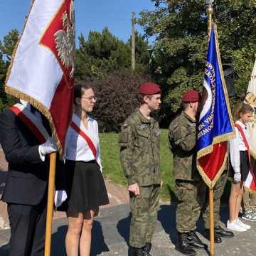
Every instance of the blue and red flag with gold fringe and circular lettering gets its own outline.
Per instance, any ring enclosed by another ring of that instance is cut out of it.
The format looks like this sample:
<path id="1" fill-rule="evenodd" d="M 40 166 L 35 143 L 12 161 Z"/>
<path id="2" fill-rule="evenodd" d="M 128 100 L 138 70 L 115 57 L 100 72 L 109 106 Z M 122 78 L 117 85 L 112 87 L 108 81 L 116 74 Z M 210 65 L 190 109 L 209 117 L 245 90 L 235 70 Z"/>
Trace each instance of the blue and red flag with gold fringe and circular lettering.
<path id="1" fill-rule="evenodd" d="M 234 123 L 220 60 L 217 27 L 214 23 L 208 44 L 201 106 L 197 167 L 205 183 L 213 188 L 225 169 L 228 139 L 234 137 Z"/>

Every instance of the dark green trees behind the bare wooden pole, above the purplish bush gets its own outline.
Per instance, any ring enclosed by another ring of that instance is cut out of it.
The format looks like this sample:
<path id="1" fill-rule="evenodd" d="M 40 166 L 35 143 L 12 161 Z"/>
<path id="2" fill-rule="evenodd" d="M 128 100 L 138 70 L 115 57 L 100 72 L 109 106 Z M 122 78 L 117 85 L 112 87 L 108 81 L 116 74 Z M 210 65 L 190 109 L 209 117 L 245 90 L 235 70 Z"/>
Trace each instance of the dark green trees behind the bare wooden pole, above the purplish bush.
<path id="1" fill-rule="evenodd" d="M 144 72 L 149 63 L 147 41 L 136 33 L 137 70 Z M 131 46 L 113 36 L 108 28 L 102 33 L 90 31 L 87 40 L 79 36 L 79 48 L 76 52 L 76 77 L 80 80 L 88 78 L 102 79 L 105 74 L 119 68 L 130 68 Z"/>

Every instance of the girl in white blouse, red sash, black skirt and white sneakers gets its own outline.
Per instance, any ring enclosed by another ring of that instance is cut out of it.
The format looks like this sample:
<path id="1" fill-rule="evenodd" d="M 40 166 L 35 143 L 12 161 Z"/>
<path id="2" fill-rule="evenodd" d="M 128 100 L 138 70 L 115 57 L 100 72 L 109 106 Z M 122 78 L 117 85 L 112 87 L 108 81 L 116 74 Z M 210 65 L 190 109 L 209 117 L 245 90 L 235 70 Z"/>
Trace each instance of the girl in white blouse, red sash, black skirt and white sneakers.
<path id="1" fill-rule="evenodd" d="M 241 103 L 235 109 L 235 138 L 230 139 L 230 163 L 231 163 L 231 185 L 229 210 L 230 218 L 227 223 L 227 228 L 230 230 L 245 232 L 250 229 L 250 225 L 242 223 L 238 218 L 241 207 L 242 194 L 247 175 L 250 171 L 250 148 L 249 134 L 246 124 L 252 117 L 253 109 L 250 105 Z"/>

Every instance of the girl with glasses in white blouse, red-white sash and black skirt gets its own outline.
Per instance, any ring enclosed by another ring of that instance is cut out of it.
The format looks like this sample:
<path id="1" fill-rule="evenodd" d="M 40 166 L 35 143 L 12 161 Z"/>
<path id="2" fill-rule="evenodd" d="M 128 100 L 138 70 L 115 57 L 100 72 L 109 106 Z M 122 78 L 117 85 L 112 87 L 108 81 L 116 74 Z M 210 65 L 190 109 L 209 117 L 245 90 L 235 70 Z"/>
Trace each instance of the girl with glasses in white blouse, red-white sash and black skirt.
<path id="1" fill-rule="evenodd" d="M 75 85 L 75 112 L 68 129 L 65 171 L 68 174 L 68 256 L 90 256 L 92 222 L 99 206 L 109 203 L 102 177 L 97 121 L 88 116 L 96 97 L 90 85 Z"/>

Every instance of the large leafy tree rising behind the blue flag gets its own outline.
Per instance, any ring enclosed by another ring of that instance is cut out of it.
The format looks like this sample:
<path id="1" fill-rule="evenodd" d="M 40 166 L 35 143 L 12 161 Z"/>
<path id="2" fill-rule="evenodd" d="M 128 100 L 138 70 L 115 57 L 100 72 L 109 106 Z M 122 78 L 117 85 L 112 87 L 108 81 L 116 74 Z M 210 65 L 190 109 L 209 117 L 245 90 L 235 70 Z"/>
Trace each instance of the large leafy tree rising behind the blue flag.
<path id="1" fill-rule="evenodd" d="M 207 50 L 204 0 L 152 0 L 154 11 L 142 11 L 139 23 L 147 36 L 155 36 L 151 75 L 164 88 L 164 101 L 173 113 L 181 106 L 181 93 L 201 88 Z M 218 24 L 223 63 L 233 63 L 238 94 L 247 89 L 256 46 L 256 2 L 216 0 L 213 19 Z"/>

